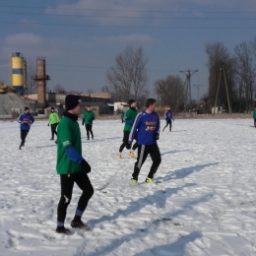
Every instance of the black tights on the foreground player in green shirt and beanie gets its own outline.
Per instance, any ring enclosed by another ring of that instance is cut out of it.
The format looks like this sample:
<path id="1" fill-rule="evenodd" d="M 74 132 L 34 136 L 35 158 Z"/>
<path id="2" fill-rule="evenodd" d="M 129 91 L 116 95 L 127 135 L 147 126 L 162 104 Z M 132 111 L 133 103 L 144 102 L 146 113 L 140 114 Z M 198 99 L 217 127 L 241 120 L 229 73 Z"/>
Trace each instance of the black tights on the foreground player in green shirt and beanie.
<path id="1" fill-rule="evenodd" d="M 57 221 L 64 223 L 67 214 L 67 208 L 72 198 L 72 191 L 74 183 L 77 183 L 79 188 L 83 191 L 79 201 L 78 210 L 84 212 L 87 208 L 88 202 L 94 195 L 94 187 L 86 173 L 78 171 L 72 174 L 60 175 L 61 196 L 57 210 Z"/>

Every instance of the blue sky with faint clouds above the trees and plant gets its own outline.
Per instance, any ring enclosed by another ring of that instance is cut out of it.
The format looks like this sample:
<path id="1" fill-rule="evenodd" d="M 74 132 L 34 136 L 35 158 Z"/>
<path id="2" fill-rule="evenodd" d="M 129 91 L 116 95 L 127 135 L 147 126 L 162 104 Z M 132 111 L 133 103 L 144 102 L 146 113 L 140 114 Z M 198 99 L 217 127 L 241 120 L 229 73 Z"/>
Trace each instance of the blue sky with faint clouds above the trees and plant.
<path id="1" fill-rule="evenodd" d="M 149 89 L 167 75 L 196 70 L 193 85 L 208 90 L 206 42 L 234 45 L 256 35 L 255 0 L 0 0 L 0 78 L 10 85 L 10 53 L 35 68 L 46 58 L 47 87 L 100 92 L 105 71 L 127 45 L 148 57 Z"/>

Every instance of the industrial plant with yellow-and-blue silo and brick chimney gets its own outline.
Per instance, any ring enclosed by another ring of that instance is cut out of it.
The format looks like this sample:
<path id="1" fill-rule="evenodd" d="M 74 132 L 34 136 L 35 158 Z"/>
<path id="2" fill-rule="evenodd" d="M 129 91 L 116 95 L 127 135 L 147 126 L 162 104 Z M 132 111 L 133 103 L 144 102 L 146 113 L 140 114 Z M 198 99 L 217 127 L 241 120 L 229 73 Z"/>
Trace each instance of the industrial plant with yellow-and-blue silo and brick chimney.
<path id="1" fill-rule="evenodd" d="M 41 116 L 47 116 L 50 107 L 54 106 L 59 115 L 62 115 L 67 94 L 46 93 L 46 85 L 50 76 L 46 75 L 45 58 L 36 59 L 36 75 L 32 77 L 32 80 L 36 83 L 37 93 L 32 95 L 28 95 L 27 61 L 23 54 L 12 53 L 10 66 L 12 87 L 7 87 L 3 83 L 0 85 L 0 118 L 15 118 L 24 111 L 25 106 L 29 106 L 34 115 Z M 114 113 L 114 104 L 109 93 L 77 95 L 81 96 L 84 106 L 92 106 L 96 115 Z"/>

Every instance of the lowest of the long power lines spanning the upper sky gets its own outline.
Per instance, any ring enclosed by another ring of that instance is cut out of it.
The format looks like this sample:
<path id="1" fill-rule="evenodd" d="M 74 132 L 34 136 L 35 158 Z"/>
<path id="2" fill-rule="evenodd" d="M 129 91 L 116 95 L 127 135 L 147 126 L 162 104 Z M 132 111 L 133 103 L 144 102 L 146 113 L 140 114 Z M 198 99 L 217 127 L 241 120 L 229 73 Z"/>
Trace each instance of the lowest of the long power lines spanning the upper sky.
<path id="1" fill-rule="evenodd" d="M 176 27 L 176 26 L 120 26 L 120 25 L 88 25 L 88 24 L 56 24 L 32 22 L 0 22 L 0 24 L 20 24 L 35 26 L 61 26 L 61 27 L 86 27 L 86 28 L 121 28 L 121 29 L 166 29 L 166 30 L 255 30 L 256 27 Z"/>

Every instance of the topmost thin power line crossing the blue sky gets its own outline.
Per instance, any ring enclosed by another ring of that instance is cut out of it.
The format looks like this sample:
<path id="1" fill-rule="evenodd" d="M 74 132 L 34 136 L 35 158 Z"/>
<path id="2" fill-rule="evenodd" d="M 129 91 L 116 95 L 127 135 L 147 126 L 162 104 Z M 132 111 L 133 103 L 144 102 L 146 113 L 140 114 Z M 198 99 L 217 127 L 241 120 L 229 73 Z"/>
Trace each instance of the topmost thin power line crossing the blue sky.
<path id="1" fill-rule="evenodd" d="M 45 8 L 45 6 L 7 6 L 7 5 L 0 5 L 0 7 L 3 8 L 23 8 L 23 9 L 42 9 Z M 51 8 L 51 7 L 48 7 Z M 123 10 L 123 9 L 93 9 L 93 8 L 64 8 L 64 7 L 52 7 L 52 9 L 54 10 L 74 10 L 74 11 L 82 11 L 82 10 L 86 10 L 86 11 L 95 11 L 95 12 L 132 12 L 132 13 L 194 13 L 194 14 L 255 14 L 256 12 L 241 12 L 241 11 L 168 11 L 168 10 L 154 10 L 154 11 L 145 11 L 145 10 Z"/>

